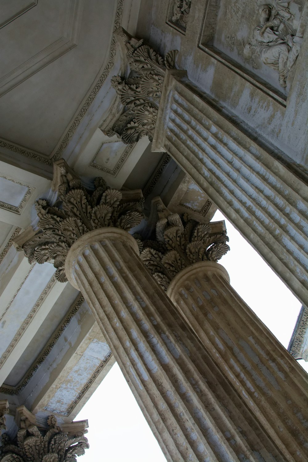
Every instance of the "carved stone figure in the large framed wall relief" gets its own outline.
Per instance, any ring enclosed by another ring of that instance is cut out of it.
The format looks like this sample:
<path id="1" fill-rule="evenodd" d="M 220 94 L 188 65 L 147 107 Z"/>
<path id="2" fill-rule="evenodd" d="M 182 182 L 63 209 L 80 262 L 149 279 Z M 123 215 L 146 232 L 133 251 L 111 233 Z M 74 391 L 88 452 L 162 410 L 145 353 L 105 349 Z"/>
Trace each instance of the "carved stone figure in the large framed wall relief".
<path id="1" fill-rule="evenodd" d="M 265 3 L 259 8 L 260 24 L 254 28 L 254 39 L 259 44 L 260 58 L 266 66 L 279 73 L 279 85 L 286 87 L 288 73 L 299 53 L 302 38 L 293 28 L 290 1 L 277 0 L 275 5 Z M 251 44 L 244 49 L 249 56 Z"/>

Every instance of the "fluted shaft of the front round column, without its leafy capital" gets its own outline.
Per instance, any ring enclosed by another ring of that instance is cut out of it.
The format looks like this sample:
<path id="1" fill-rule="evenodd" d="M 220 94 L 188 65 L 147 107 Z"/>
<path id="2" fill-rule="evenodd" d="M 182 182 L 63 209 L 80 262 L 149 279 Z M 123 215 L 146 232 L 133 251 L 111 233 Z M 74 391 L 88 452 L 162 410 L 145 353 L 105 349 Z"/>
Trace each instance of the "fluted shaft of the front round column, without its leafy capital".
<path id="1" fill-rule="evenodd" d="M 104 228 L 79 238 L 66 257 L 66 275 L 87 300 L 169 460 L 286 460 L 153 280 L 126 231 Z"/>

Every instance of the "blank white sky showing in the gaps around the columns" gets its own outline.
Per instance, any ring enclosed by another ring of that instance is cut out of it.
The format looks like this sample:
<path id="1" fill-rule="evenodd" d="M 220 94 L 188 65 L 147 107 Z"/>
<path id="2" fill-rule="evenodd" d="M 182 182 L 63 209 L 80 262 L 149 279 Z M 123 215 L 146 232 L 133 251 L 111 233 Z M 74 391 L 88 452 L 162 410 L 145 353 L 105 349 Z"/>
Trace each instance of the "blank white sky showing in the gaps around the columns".
<path id="1" fill-rule="evenodd" d="M 222 213 L 217 211 L 213 221 L 222 219 Z M 301 304 L 240 233 L 225 221 L 231 250 L 219 263 L 227 269 L 231 286 L 287 348 Z M 308 372 L 308 363 L 298 362 Z M 89 420 L 90 449 L 78 458 L 80 462 L 166 460 L 117 364 L 75 420 L 82 419 Z"/>

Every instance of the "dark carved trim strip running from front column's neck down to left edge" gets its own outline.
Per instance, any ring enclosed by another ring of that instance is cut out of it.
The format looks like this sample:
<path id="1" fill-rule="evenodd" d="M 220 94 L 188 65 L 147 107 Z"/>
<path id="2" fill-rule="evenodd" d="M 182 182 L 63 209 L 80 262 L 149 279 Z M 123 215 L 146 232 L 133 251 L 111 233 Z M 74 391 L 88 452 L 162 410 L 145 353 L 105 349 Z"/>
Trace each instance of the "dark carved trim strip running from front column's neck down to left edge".
<path id="1" fill-rule="evenodd" d="M 61 323 L 57 331 L 52 335 L 48 340 L 47 345 L 44 347 L 43 351 L 36 358 L 34 364 L 30 367 L 30 370 L 26 373 L 25 377 L 22 379 L 21 383 L 17 387 L 8 386 L 3 384 L 0 387 L 0 393 L 5 393 L 6 395 L 19 395 L 26 385 L 30 382 L 31 378 L 36 374 L 38 369 L 41 367 L 45 359 L 48 357 L 49 353 L 52 351 L 53 347 L 59 340 L 60 336 L 63 334 L 69 323 L 72 321 L 75 314 L 79 311 L 79 308 L 84 303 L 85 298 L 82 295 L 79 295 L 76 302 L 73 304 L 72 309 L 66 316 L 65 320 Z"/>

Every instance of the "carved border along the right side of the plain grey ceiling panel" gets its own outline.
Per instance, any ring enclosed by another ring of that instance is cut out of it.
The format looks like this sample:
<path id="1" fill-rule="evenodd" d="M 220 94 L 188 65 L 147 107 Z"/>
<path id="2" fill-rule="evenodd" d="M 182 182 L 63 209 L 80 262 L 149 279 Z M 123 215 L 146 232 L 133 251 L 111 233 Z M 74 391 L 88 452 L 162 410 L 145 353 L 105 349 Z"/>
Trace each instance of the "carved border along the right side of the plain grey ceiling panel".
<path id="1" fill-rule="evenodd" d="M 122 18 L 122 12 L 123 12 L 123 5 L 124 5 L 124 0 L 118 0 L 117 2 L 117 7 L 116 7 L 116 13 L 115 13 L 115 23 L 114 23 L 114 32 L 117 30 L 120 25 L 121 25 L 121 18 Z M 90 108 L 91 104 L 93 103 L 95 97 L 97 96 L 97 93 L 103 86 L 105 80 L 107 79 L 113 65 L 115 62 L 115 53 L 116 53 L 116 38 L 115 35 L 112 36 L 111 40 L 111 47 L 110 47 L 110 53 L 109 53 L 109 61 L 107 63 L 107 66 L 104 68 L 104 72 L 101 75 L 101 77 L 97 80 L 96 84 L 94 85 L 93 89 L 91 90 L 90 95 L 87 97 L 87 100 L 83 104 L 82 108 L 79 110 L 79 113 L 75 117 L 74 121 L 72 122 L 72 125 L 66 132 L 64 138 L 62 139 L 60 146 L 57 148 L 56 152 L 54 153 L 54 156 L 52 158 L 53 161 L 60 159 L 62 156 L 62 152 L 68 145 L 70 139 L 72 138 L 72 135 L 75 133 L 77 127 L 79 126 L 79 123 L 82 121 L 83 117 L 85 116 L 85 113 L 87 110 Z"/>

